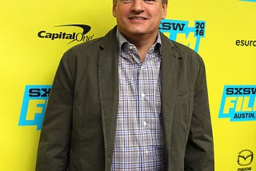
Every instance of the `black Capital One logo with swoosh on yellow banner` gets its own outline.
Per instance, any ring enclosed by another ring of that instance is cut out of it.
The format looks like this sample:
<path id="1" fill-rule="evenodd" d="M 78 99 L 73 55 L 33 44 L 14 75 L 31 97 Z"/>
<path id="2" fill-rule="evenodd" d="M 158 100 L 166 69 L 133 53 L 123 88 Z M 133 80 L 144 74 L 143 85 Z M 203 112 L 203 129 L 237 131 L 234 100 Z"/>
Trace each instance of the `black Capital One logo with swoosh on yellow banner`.
<path id="1" fill-rule="evenodd" d="M 68 44 L 72 42 L 88 42 L 94 38 L 93 35 L 86 35 L 90 31 L 90 26 L 82 25 L 82 24 L 71 24 L 71 25 L 61 25 L 61 26 L 54 26 L 58 28 L 57 30 L 40 30 L 38 32 L 38 38 L 42 39 L 50 39 L 54 40 L 68 40 Z M 76 28 L 80 30 L 79 32 L 66 32 L 65 28 Z"/>

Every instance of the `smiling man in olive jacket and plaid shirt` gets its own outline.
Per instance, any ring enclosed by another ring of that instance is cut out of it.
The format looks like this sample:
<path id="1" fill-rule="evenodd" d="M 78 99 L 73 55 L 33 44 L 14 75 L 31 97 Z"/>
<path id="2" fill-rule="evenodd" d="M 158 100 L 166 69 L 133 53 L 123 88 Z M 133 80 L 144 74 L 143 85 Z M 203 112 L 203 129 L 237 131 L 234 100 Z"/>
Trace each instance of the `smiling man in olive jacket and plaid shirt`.
<path id="1" fill-rule="evenodd" d="M 158 32 L 167 0 L 114 0 L 117 27 L 58 66 L 37 170 L 214 170 L 202 58 Z"/>

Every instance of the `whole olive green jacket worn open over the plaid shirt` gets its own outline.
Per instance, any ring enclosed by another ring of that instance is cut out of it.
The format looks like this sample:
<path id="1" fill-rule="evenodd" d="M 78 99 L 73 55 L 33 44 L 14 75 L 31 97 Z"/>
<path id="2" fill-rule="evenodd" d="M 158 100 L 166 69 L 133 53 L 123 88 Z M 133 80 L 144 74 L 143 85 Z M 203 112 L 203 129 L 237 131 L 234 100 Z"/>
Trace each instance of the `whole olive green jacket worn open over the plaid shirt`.
<path id="1" fill-rule="evenodd" d="M 58 66 L 38 145 L 37 171 L 110 171 L 118 113 L 116 27 L 68 50 Z M 162 117 L 167 170 L 213 171 L 205 66 L 162 39 Z"/>

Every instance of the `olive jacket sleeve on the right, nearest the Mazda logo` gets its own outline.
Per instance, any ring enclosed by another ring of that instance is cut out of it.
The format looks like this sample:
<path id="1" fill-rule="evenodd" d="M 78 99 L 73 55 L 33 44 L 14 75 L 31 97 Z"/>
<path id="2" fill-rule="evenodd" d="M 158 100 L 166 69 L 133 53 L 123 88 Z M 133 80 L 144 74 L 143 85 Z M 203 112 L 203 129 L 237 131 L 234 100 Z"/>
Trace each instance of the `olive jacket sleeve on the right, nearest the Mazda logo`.
<path id="1" fill-rule="evenodd" d="M 194 87 L 194 109 L 186 145 L 184 169 L 214 171 L 214 144 L 206 87 L 206 70 L 202 58 L 198 59 L 200 65 Z"/>

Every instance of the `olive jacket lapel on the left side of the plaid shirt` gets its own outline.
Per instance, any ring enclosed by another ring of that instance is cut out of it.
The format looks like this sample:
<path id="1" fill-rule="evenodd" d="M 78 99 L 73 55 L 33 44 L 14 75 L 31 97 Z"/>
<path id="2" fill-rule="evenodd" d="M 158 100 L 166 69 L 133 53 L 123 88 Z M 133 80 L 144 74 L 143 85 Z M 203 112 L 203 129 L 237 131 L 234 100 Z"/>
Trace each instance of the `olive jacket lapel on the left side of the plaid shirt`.
<path id="1" fill-rule="evenodd" d="M 102 128 L 106 170 L 110 170 L 118 114 L 118 49 L 115 29 L 110 30 L 99 46 L 98 84 L 102 107 Z"/>

